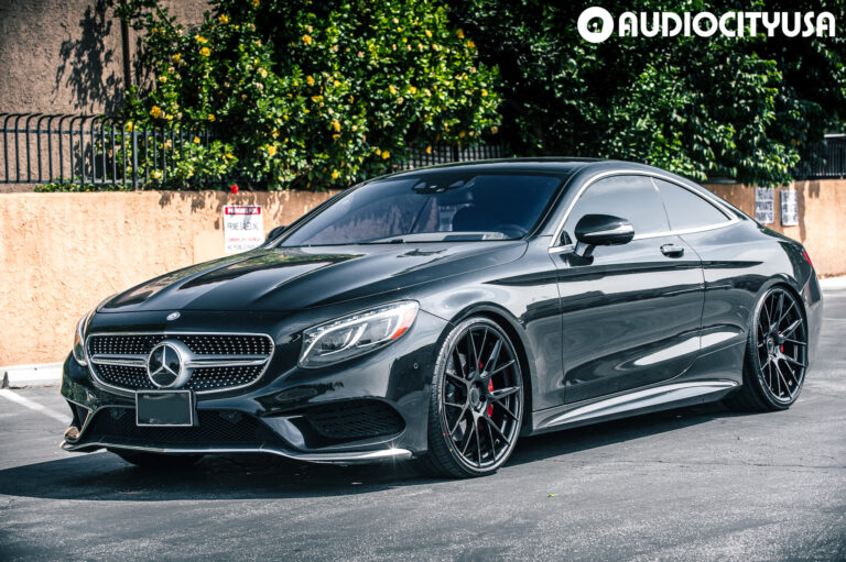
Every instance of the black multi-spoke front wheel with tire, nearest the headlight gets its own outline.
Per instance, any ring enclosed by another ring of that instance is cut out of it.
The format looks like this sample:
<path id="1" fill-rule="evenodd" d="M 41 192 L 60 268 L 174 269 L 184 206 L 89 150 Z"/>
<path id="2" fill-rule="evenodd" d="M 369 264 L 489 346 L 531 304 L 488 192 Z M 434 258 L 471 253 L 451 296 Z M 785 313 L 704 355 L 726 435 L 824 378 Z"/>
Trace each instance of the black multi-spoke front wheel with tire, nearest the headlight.
<path id="1" fill-rule="evenodd" d="M 459 322 L 435 363 L 429 411 L 429 474 L 494 474 L 514 450 L 523 416 L 523 378 L 508 334 L 485 317 Z"/>

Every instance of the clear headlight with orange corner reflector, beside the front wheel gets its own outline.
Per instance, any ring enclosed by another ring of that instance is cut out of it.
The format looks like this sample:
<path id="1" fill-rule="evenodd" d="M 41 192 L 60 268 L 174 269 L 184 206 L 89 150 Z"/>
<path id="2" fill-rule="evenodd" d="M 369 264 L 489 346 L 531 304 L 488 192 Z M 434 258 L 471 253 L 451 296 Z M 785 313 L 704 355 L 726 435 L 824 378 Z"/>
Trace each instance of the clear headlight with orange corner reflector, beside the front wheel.
<path id="1" fill-rule="evenodd" d="M 409 331 L 417 308 L 413 300 L 393 302 L 310 328 L 303 333 L 300 366 L 322 367 L 388 345 Z"/>

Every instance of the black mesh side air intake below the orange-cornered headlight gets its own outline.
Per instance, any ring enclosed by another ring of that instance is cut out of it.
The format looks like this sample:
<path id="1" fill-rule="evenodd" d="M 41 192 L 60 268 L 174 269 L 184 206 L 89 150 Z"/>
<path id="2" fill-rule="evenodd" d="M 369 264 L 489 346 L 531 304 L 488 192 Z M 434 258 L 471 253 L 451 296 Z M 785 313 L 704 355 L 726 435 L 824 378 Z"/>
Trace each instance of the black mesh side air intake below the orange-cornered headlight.
<path id="1" fill-rule="evenodd" d="M 402 417 L 379 400 L 345 400 L 305 410 L 305 419 L 329 439 L 365 439 L 392 436 L 405 427 Z"/>

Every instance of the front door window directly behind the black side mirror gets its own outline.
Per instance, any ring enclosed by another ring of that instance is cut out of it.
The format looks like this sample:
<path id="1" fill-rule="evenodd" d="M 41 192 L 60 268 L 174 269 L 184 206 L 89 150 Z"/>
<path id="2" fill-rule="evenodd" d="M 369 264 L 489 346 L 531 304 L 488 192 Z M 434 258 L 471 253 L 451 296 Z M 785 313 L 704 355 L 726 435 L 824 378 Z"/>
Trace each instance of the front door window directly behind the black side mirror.
<path id="1" fill-rule="evenodd" d="M 647 176 L 611 176 L 588 187 L 564 223 L 564 232 L 571 242 L 576 241 L 573 231 L 585 214 L 628 219 L 634 227 L 636 236 L 670 230 L 661 197 Z"/>

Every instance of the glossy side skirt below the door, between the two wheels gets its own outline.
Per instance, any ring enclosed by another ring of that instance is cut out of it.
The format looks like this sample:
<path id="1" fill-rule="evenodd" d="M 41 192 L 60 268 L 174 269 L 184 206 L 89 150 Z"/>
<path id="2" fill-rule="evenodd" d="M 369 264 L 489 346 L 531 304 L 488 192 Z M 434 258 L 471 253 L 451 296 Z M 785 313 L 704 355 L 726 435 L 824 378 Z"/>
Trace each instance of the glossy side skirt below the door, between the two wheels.
<path id="1" fill-rule="evenodd" d="M 604 398 L 584 406 L 568 404 L 533 414 L 534 431 L 585 426 L 638 414 L 716 401 L 740 386 L 736 381 L 693 381 L 653 386 L 643 390 Z"/>

